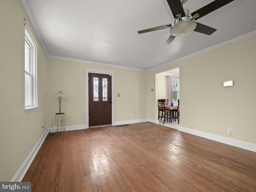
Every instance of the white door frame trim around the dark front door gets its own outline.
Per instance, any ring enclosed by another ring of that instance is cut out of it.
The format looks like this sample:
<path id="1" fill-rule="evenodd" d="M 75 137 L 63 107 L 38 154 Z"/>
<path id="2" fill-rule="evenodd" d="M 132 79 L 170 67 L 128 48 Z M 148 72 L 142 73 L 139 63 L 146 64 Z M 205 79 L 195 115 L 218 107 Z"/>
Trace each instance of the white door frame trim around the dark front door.
<path id="1" fill-rule="evenodd" d="M 89 128 L 89 96 L 88 96 L 88 76 L 89 73 L 98 73 L 98 74 L 106 74 L 106 75 L 110 75 L 111 76 L 111 81 L 112 81 L 112 125 L 114 125 L 114 71 L 106 71 L 106 70 L 98 70 L 98 69 L 90 69 L 90 68 L 86 68 L 86 76 L 85 76 L 85 80 L 86 80 L 86 93 L 85 93 L 85 114 L 86 114 L 86 128 Z"/>

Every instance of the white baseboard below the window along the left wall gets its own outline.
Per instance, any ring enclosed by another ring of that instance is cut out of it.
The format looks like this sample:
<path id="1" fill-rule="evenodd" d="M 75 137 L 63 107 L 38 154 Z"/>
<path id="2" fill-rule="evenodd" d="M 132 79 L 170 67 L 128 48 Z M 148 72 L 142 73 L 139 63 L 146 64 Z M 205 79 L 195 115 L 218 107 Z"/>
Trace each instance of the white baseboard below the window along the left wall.
<path id="1" fill-rule="evenodd" d="M 12 178 L 11 182 L 21 182 L 23 177 L 25 176 L 26 172 L 28 171 L 28 168 L 30 167 L 32 161 L 34 160 L 37 152 L 39 151 L 40 147 L 42 146 L 43 142 L 45 140 L 44 135 L 41 136 L 41 138 L 38 140 L 34 148 L 31 150 L 30 154 L 28 154 L 25 161 L 20 166 L 19 170 L 16 172 L 14 177 Z"/>

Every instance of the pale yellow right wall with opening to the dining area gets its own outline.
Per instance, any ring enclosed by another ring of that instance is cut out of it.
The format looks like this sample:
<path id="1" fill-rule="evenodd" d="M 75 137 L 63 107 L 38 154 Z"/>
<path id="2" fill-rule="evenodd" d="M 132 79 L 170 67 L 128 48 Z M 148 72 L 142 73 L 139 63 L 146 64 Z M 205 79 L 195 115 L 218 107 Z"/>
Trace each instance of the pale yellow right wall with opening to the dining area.
<path id="1" fill-rule="evenodd" d="M 256 36 L 148 72 L 180 68 L 180 126 L 256 144 Z M 234 80 L 233 87 L 222 81 Z M 148 94 L 150 94 L 148 90 Z M 148 118 L 157 118 L 157 96 L 148 96 Z M 232 135 L 227 134 L 232 128 Z"/>

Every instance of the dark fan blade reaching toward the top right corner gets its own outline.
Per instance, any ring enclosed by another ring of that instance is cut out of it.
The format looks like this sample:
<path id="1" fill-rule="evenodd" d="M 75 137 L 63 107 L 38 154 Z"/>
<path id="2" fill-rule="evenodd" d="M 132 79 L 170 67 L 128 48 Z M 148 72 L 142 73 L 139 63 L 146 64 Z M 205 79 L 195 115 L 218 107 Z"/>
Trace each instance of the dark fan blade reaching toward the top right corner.
<path id="1" fill-rule="evenodd" d="M 222 6 L 232 2 L 234 0 L 215 0 L 211 3 L 209 3 L 208 5 L 198 9 L 197 11 L 193 12 L 191 15 L 194 16 L 195 14 L 199 14 L 199 17 L 196 18 L 195 20 L 201 18 L 202 16 L 207 15 L 210 12 L 215 11 L 218 8 L 221 8 Z"/>

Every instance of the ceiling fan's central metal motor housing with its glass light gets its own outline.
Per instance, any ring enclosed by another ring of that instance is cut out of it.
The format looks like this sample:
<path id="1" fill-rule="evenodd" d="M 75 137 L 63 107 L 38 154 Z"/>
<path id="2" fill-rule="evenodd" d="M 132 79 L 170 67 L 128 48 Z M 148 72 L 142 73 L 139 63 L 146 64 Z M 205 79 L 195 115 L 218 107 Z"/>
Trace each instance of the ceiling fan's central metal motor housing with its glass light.
<path id="1" fill-rule="evenodd" d="M 188 9 L 184 9 L 185 15 L 181 17 L 181 15 L 177 15 L 177 19 L 174 21 L 170 28 L 170 34 L 172 36 L 184 36 L 196 28 L 196 22 L 194 20 L 190 20 L 190 14 Z"/>

